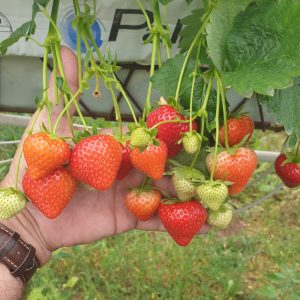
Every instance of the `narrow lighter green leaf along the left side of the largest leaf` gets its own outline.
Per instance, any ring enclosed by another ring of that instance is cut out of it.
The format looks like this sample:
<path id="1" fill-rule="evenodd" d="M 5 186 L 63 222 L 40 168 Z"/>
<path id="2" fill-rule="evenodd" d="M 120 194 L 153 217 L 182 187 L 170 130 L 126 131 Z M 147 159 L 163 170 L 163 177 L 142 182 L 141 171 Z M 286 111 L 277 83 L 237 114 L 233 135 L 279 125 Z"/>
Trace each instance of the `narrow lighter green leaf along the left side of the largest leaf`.
<path id="1" fill-rule="evenodd" d="M 224 46 L 228 32 L 231 30 L 234 18 L 244 11 L 253 0 L 219 1 L 210 15 L 210 23 L 206 27 L 209 56 L 215 66 L 224 67 Z"/>

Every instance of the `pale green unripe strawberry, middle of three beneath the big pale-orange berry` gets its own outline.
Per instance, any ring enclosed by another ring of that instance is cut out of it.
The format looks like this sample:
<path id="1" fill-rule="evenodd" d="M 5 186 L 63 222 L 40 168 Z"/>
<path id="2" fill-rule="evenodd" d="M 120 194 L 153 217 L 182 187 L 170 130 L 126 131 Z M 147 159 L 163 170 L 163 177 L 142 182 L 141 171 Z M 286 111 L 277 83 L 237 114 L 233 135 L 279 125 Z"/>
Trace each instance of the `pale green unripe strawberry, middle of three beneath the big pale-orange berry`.
<path id="1" fill-rule="evenodd" d="M 206 181 L 197 187 L 197 195 L 206 207 L 218 210 L 228 195 L 228 188 L 222 182 Z"/>

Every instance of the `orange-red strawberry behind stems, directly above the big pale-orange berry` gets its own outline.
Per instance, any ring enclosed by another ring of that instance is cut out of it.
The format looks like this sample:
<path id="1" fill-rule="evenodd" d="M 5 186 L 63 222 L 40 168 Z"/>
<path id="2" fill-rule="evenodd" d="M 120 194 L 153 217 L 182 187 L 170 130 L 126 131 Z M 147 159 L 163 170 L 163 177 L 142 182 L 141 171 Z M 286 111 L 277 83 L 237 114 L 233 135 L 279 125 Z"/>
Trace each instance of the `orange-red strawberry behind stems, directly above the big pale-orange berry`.
<path id="1" fill-rule="evenodd" d="M 228 119 L 227 127 L 229 146 L 237 145 L 247 134 L 249 135 L 247 141 L 249 141 L 254 131 L 254 123 L 247 115 Z M 220 129 L 220 143 L 225 146 L 224 126 Z"/>

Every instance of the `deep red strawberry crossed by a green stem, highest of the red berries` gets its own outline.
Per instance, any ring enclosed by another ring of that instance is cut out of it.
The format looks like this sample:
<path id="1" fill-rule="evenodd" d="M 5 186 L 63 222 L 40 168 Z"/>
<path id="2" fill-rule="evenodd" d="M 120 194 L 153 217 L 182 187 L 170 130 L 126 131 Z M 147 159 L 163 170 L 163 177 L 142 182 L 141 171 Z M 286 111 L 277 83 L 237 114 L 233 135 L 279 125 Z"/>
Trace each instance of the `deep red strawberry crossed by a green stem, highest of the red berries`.
<path id="1" fill-rule="evenodd" d="M 147 127 L 151 128 L 166 120 L 185 120 L 185 117 L 172 106 L 161 105 L 148 115 Z M 197 130 L 197 128 L 197 123 L 193 121 L 193 130 Z M 159 125 L 157 129 L 156 137 L 166 143 L 168 157 L 174 157 L 183 148 L 182 144 L 178 144 L 178 141 L 182 138 L 182 133 L 189 131 L 189 123 L 167 123 Z"/>

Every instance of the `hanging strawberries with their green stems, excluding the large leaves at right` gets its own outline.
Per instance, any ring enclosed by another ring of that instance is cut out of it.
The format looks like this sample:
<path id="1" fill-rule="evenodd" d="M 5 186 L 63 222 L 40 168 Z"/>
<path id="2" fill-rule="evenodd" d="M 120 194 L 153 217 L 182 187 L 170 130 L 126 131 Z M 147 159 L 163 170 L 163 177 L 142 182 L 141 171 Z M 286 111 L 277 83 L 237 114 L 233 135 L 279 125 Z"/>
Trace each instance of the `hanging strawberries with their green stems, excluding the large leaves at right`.
<path id="1" fill-rule="evenodd" d="M 104 57 L 96 45 L 90 28 L 95 14 L 90 13 L 87 3 L 81 10 L 78 0 L 74 0 L 76 18 L 73 22 L 77 31 L 77 91 L 68 85 L 60 53 L 61 36 L 56 27 L 59 1 L 53 1 L 49 34 L 44 42 L 43 98 L 23 144 L 27 164 L 22 179 L 24 193 L 17 185 L 18 167 L 16 185 L 0 190 L 0 219 L 21 212 L 26 206 L 25 197 L 46 217 L 56 218 L 71 201 L 79 184 L 102 192 L 112 188 L 116 181 L 126 180 L 135 169 L 144 174 L 145 180 L 141 186 L 130 187 L 124 195 L 128 210 L 141 221 L 158 214 L 179 245 L 188 245 L 206 222 L 220 229 L 228 227 L 233 215 L 229 196 L 243 191 L 257 166 L 256 154 L 250 147 L 254 124 L 247 114 L 228 113 L 227 88 L 222 72 L 207 60 L 205 53 L 209 41 L 207 25 L 216 4 L 214 1 L 204 2 L 201 22 L 192 38 L 189 36 L 188 46 L 183 31 L 181 46 L 185 55 L 173 58 L 179 66 L 173 91 L 164 95 L 166 100 L 161 97 L 154 102 L 151 101 L 153 85 L 159 87 L 163 82 L 161 79 L 172 76 L 170 71 L 166 72 L 172 61 L 170 30 L 167 23 L 162 24 L 159 1 L 152 1 L 153 24 L 141 2 L 137 1 L 150 32 L 145 43 L 152 47 L 145 109 L 138 120 L 116 78 L 115 72 L 119 70 L 116 59 L 110 52 Z M 40 4 L 39 10 L 45 12 L 45 7 Z M 83 64 L 81 40 L 87 49 Z M 162 49 L 169 58 L 166 65 L 162 64 Z M 53 56 L 55 102 L 47 94 L 49 54 Z M 154 72 L 156 64 L 159 69 Z M 202 68 L 203 65 L 206 68 Z M 100 94 L 100 80 L 111 93 L 118 124 L 114 135 L 105 135 L 96 128 L 89 129 L 77 104 L 77 98 L 90 88 L 88 80 L 92 78 L 96 81 L 95 95 Z M 188 91 L 186 86 L 189 86 Z M 126 133 L 116 90 L 123 95 L 132 114 L 133 123 L 126 124 Z M 61 105 L 61 102 L 63 109 L 54 123 L 53 106 Z M 73 128 L 73 106 L 81 119 L 83 131 Z M 40 130 L 36 130 L 35 122 L 42 111 L 47 111 L 48 124 L 42 124 Z M 68 120 L 70 136 L 57 133 L 63 117 Z M 298 150 L 299 142 L 293 156 L 282 154 L 275 165 L 277 173 L 289 187 L 300 184 Z M 183 162 L 184 155 L 190 159 L 188 163 Z M 171 178 L 176 193 L 170 194 L 170 191 L 155 186 L 155 181 L 163 176 Z"/>

